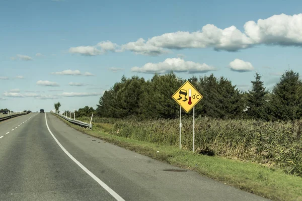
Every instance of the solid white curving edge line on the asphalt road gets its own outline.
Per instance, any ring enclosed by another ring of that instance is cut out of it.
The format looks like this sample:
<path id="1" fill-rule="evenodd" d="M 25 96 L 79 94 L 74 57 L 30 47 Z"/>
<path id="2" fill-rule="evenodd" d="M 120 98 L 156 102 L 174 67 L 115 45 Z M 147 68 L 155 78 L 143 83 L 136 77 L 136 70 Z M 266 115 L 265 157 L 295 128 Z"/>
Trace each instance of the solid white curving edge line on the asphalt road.
<path id="1" fill-rule="evenodd" d="M 67 156 L 69 156 L 69 158 L 71 160 L 73 160 L 73 162 L 77 163 L 77 165 L 79 165 L 89 176 L 91 176 L 96 182 L 98 182 L 105 190 L 107 190 L 116 200 L 118 201 L 125 201 L 121 196 L 119 196 L 119 194 L 117 194 L 114 190 L 112 190 L 106 183 L 104 183 L 101 179 L 99 179 L 96 175 L 94 175 L 91 171 L 89 171 L 84 165 L 82 165 L 77 159 L 75 159 L 62 145 L 61 143 L 59 143 L 59 141 L 54 137 L 54 135 L 52 134 L 52 132 L 50 131 L 48 124 L 47 124 L 47 118 L 46 118 L 46 113 L 45 113 L 45 121 L 46 121 L 46 126 L 47 129 L 49 131 L 49 133 L 51 134 L 51 136 L 53 137 L 54 141 L 59 145 L 59 147 L 65 152 L 65 154 Z"/>

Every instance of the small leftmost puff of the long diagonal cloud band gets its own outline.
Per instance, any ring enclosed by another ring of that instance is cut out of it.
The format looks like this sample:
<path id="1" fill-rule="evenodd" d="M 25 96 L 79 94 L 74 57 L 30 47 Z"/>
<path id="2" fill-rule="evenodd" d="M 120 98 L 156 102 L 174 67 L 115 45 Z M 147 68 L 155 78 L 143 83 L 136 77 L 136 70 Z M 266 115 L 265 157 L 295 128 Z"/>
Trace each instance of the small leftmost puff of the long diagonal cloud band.
<path id="1" fill-rule="evenodd" d="M 97 56 L 97 55 L 105 54 L 108 51 L 121 52 L 121 50 L 117 49 L 118 47 L 119 46 L 117 44 L 112 43 L 110 41 L 102 41 L 95 46 L 71 47 L 69 48 L 69 53 L 81 54 L 83 56 Z"/>

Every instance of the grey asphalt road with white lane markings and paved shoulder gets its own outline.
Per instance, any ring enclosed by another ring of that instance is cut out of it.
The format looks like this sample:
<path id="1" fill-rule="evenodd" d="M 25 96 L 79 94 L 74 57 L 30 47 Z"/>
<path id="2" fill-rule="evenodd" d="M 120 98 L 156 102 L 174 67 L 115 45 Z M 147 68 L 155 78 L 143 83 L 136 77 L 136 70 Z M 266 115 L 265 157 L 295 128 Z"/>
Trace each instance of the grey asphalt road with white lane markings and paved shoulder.
<path id="1" fill-rule="evenodd" d="M 0 200 L 267 200 L 165 169 L 180 168 L 78 132 L 49 113 L 0 123 Z"/>

